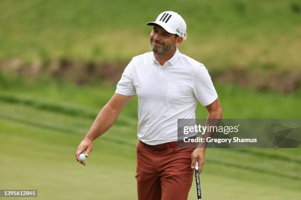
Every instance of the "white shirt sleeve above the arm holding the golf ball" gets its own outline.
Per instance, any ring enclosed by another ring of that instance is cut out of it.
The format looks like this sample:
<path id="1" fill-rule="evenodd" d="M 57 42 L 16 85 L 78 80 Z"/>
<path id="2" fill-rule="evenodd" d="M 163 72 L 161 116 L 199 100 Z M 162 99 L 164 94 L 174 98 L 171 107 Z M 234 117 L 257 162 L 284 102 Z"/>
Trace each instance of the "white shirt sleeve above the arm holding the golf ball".
<path id="1" fill-rule="evenodd" d="M 117 83 L 115 93 L 125 96 L 133 96 L 136 94 L 133 84 L 133 60 L 126 66 L 122 76 Z"/>

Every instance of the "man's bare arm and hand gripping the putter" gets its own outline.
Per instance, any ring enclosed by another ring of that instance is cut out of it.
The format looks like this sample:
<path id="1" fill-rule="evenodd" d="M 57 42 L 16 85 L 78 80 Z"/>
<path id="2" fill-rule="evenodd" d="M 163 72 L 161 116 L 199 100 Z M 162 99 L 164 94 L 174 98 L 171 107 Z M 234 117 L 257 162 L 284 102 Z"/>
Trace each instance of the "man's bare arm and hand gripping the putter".
<path id="1" fill-rule="evenodd" d="M 205 106 L 206 109 L 209 112 L 209 115 L 207 117 L 207 121 L 211 120 L 211 119 L 221 119 L 222 118 L 222 107 L 220 105 L 220 102 L 218 100 L 218 98 L 216 100 L 214 100 L 211 104 Z M 191 153 L 191 168 L 194 169 L 194 166 L 196 164 L 196 162 L 199 162 L 199 171 L 200 173 L 203 170 L 203 165 L 205 164 L 205 147 L 202 148 L 196 148 L 195 150 L 193 150 L 193 152 Z"/>

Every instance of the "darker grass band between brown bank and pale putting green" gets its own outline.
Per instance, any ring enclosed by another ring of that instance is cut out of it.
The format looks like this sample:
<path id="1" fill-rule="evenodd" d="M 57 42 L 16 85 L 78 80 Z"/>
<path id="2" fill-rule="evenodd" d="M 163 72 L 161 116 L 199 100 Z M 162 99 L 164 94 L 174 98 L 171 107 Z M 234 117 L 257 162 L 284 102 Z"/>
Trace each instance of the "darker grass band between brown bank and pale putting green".
<path id="1" fill-rule="evenodd" d="M 214 84 L 223 107 L 223 118 L 298 119 L 301 117 L 301 91 L 283 95 L 261 93 L 236 85 Z M 21 76 L 0 73 L 0 100 L 19 103 L 50 111 L 94 119 L 110 100 L 115 86 L 103 83 L 75 85 L 51 80 L 28 80 Z M 87 108 L 87 105 L 89 107 Z M 121 121 L 130 116 L 137 119 L 137 98 L 133 98 L 121 113 Z M 207 110 L 198 104 L 197 118 L 206 118 Z M 128 120 L 127 120 L 128 121 Z"/>

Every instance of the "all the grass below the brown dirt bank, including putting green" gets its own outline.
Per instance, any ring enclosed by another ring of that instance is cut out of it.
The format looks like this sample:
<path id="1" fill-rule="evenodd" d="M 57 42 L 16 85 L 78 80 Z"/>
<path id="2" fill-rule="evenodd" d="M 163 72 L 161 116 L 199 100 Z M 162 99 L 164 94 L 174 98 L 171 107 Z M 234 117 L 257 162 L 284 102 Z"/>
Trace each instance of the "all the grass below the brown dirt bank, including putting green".
<path id="1" fill-rule="evenodd" d="M 37 189 L 43 200 L 137 199 L 136 98 L 116 125 L 94 141 L 87 166 L 82 166 L 74 158 L 76 147 L 114 87 L 5 81 L 10 82 L 0 92 L 1 189 Z M 300 93 L 283 96 L 235 86 L 216 88 L 225 118 L 300 118 Z M 198 118 L 206 115 L 198 106 Z M 300 149 L 208 149 L 206 156 L 201 177 L 206 200 L 301 197 Z M 193 183 L 189 200 L 195 196 Z"/>

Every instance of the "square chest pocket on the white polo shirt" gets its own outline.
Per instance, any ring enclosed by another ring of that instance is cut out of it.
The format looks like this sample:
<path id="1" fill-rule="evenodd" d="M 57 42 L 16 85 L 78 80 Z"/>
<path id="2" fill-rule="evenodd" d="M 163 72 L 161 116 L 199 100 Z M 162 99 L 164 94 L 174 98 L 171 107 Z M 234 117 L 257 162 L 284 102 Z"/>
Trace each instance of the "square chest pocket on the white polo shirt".
<path id="1" fill-rule="evenodd" d="M 167 101 L 170 103 L 184 103 L 187 98 L 188 86 L 179 83 L 169 83 L 167 89 Z"/>

